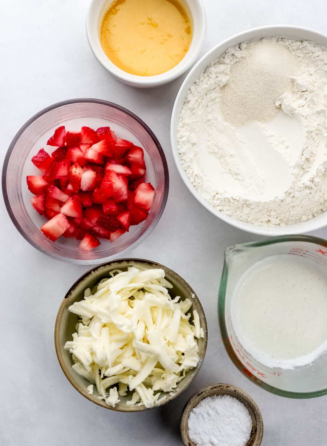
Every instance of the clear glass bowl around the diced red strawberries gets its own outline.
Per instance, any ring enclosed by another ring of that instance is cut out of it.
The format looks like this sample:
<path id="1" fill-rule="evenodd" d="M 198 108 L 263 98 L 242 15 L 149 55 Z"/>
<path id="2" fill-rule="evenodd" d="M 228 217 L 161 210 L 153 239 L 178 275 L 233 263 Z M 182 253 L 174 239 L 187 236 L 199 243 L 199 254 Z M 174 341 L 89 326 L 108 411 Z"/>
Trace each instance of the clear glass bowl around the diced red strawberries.
<path id="1" fill-rule="evenodd" d="M 147 182 L 151 182 L 156 190 L 151 210 L 143 223 L 131 226 L 129 232 L 113 243 L 101 239 L 101 245 L 92 252 L 80 251 L 77 240 L 64 237 L 60 237 L 55 243 L 48 240 L 39 229 L 46 220 L 38 215 L 30 203 L 32 194 L 27 189 L 26 176 L 40 174 L 31 158 L 42 147 L 47 150 L 46 141 L 60 125 L 75 131 L 79 131 L 83 125 L 92 128 L 110 126 L 118 136 L 143 147 Z M 39 251 L 55 259 L 76 264 L 113 260 L 135 248 L 158 223 L 166 206 L 168 189 L 166 157 L 150 128 L 126 108 L 99 99 L 63 101 L 37 113 L 14 137 L 2 170 L 4 202 L 17 230 Z"/>

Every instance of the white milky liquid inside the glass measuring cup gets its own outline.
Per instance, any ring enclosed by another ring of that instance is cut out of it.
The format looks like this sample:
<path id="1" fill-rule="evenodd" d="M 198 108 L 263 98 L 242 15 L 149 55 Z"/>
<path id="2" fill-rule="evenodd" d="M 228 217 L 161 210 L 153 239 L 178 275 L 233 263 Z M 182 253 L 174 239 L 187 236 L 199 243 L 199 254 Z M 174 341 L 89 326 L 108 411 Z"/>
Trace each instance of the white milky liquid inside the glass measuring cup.
<path id="1" fill-rule="evenodd" d="M 243 274 L 234 293 L 236 336 L 260 363 L 293 369 L 327 350 L 327 269 L 320 264 L 268 257 Z"/>

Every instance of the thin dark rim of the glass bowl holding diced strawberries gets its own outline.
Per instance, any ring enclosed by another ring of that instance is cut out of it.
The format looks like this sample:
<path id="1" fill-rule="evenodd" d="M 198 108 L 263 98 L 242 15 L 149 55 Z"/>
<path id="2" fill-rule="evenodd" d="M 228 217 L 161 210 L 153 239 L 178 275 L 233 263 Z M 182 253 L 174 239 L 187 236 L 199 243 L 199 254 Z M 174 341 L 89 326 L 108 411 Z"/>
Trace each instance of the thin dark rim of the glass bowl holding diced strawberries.
<path id="1" fill-rule="evenodd" d="M 50 251 L 42 248 L 40 245 L 35 243 L 34 240 L 32 240 L 29 237 L 28 234 L 25 233 L 25 231 L 21 227 L 20 223 L 18 222 L 18 220 L 17 220 L 17 218 L 16 218 L 16 216 L 15 216 L 15 214 L 13 212 L 13 209 L 12 209 L 12 207 L 10 205 L 9 198 L 8 198 L 7 181 L 6 181 L 7 180 L 8 164 L 9 164 L 9 160 L 10 160 L 10 157 L 12 155 L 13 149 L 14 149 L 17 141 L 21 137 L 21 135 L 25 132 L 25 130 L 34 121 L 36 121 L 41 116 L 45 115 L 47 112 L 52 111 L 55 108 L 59 108 L 59 107 L 65 106 L 65 105 L 70 105 L 70 104 L 75 104 L 75 103 L 96 103 L 96 104 L 100 104 L 100 105 L 113 107 L 113 108 L 116 108 L 119 111 L 122 111 L 122 112 L 126 113 L 126 115 L 130 116 L 138 124 L 140 124 L 141 127 L 143 127 L 144 130 L 151 137 L 151 139 L 153 140 L 153 142 L 154 142 L 154 144 L 155 144 L 155 146 L 156 146 L 156 148 L 157 148 L 157 150 L 159 152 L 159 156 L 161 158 L 161 162 L 163 164 L 163 169 L 164 169 L 164 192 L 163 192 L 163 196 L 162 196 L 159 212 L 155 216 L 155 219 L 152 222 L 152 224 L 147 228 L 147 230 L 137 240 L 135 240 L 135 242 L 133 244 L 128 246 L 123 251 L 117 252 L 117 254 L 114 254 L 113 256 L 106 256 L 106 257 L 101 257 L 101 258 L 98 258 L 98 259 L 78 260 L 78 259 L 64 258 L 62 256 L 59 256 L 57 254 L 54 254 L 53 252 L 50 252 Z M 158 138 L 152 132 L 151 128 L 149 128 L 148 125 L 141 118 L 139 118 L 137 115 L 135 115 L 132 111 L 128 110 L 125 107 L 122 107 L 121 105 L 118 105 L 118 104 L 113 103 L 113 102 L 105 101 L 103 99 L 75 98 L 75 99 L 67 99 L 65 101 L 56 102 L 56 103 L 54 103 L 52 105 L 49 105 L 48 107 L 43 108 L 41 111 L 38 111 L 38 113 L 36 113 L 31 118 L 29 118 L 29 120 L 27 120 L 25 122 L 25 124 L 23 124 L 21 126 L 21 128 L 18 130 L 16 135 L 13 137 L 13 140 L 10 143 L 10 145 L 8 147 L 8 150 L 7 150 L 7 153 L 6 153 L 5 157 L 4 157 L 4 163 L 3 163 L 2 175 L 1 175 L 1 183 L 2 183 L 2 194 L 3 194 L 3 198 L 4 198 L 4 204 L 6 206 L 8 215 L 9 215 L 11 221 L 13 222 L 14 226 L 16 227 L 17 231 L 24 237 L 24 239 L 30 245 L 32 245 L 34 248 L 36 248 L 38 251 L 42 252 L 43 254 L 46 254 L 47 256 L 52 257 L 53 259 L 56 259 L 56 260 L 60 260 L 60 261 L 67 262 L 67 263 L 73 263 L 73 264 L 90 265 L 90 264 L 97 264 L 99 262 L 106 262 L 106 261 L 114 260 L 117 257 L 125 256 L 132 249 L 136 248 L 153 231 L 153 229 L 155 228 L 155 226 L 159 222 L 159 219 L 161 218 L 161 215 L 163 214 L 164 209 L 166 207 L 166 203 L 167 203 L 167 199 L 168 199 L 168 192 L 169 192 L 169 171 L 168 171 L 167 159 L 166 159 L 166 156 L 164 154 L 164 150 L 163 150 L 161 144 L 159 143 Z"/>

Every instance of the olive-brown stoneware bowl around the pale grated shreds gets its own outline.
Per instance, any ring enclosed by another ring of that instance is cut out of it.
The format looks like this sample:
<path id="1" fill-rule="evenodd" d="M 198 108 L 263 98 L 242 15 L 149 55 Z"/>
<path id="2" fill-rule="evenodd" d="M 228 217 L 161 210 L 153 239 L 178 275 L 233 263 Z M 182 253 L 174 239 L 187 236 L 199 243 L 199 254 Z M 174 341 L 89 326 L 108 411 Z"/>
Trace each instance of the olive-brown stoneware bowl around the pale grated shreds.
<path id="1" fill-rule="evenodd" d="M 109 263 L 101 264 L 96 268 L 90 269 L 87 273 L 83 274 L 83 276 L 80 277 L 74 283 L 74 285 L 72 285 L 71 288 L 68 290 L 66 296 L 64 297 L 60 305 L 57 314 L 55 322 L 55 349 L 57 357 L 60 366 L 64 374 L 66 375 L 68 381 L 71 383 L 73 387 L 75 387 L 75 389 L 78 392 L 80 392 L 81 395 L 85 396 L 85 398 L 87 398 L 89 401 L 92 401 L 93 403 L 99 406 L 105 407 L 106 409 L 117 410 L 120 412 L 139 412 L 147 410 L 147 408 L 145 406 L 126 405 L 126 401 L 130 400 L 131 398 L 131 394 L 124 397 L 120 397 L 121 401 L 114 408 L 106 405 L 105 401 L 100 400 L 98 398 L 99 394 L 96 391 L 96 388 L 94 388 L 93 394 L 89 395 L 87 387 L 90 383 L 82 376 L 74 372 L 74 370 L 71 368 L 73 364 L 73 361 L 71 359 L 71 354 L 69 353 L 69 351 L 64 350 L 63 347 L 66 341 L 72 339 L 71 336 L 73 333 L 75 333 L 75 325 L 78 320 L 76 314 L 70 313 L 68 311 L 68 307 L 71 306 L 74 302 L 81 301 L 84 298 L 84 290 L 86 288 L 92 289 L 94 285 L 96 285 L 99 281 L 101 281 L 101 279 L 109 277 L 109 271 L 112 271 L 113 269 L 117 268 L 126 270 L 128 266 L 132 265 L 135 265 L 136 267 L 142 266 L 143 268 L 146 267 L 146 268 L 164 269 L 166 273 L 165 276 L 166 279 L 173 285 L 173 288 L 169 290 L 169 294 L 171 295 L 172 298 L 180 296 L 182 301 L 186 299 L 186 297 L 188 297 L 193 302 L 190 311 L 192 312 L 193 310 L 197 310 L 197 313 L 199 314 L 200 317 L 200 324 L 204 331 L 204 338 L 198 340 L 200 361 L 197 364 L 197 367 L 187 372 L 185 378 L 177 384 L 177 387 L 174 390 L 173 394 L 172 395 L 167 394 L 166 400 L 163 401 L 160 405 L 164 405 L 169 401 L 172 401 L 174 398 L 176 398 L 176 396 L 184 392 L 184 390 L 193 381 L 195 376 L 197 376 L 197 373 L 199 372 L 203 359 L 205 357 L 205 351 L 208 339 L 208 330 L 207 330 L 207 323 L 205 320 L 205 314 L 197 295 L 194 293 L 193 289 L 189 286 L 189 284 L 186 283 L 184 279 L 182 279 L 182 277 L 180 277 L 171 269 L 166 268 L 165 266 L 160 265 L 159 263 L 151 262 L 149 260 L 120 259 Z M 192 297 L 192 294 L 194 294 L 194 297 Z"/>

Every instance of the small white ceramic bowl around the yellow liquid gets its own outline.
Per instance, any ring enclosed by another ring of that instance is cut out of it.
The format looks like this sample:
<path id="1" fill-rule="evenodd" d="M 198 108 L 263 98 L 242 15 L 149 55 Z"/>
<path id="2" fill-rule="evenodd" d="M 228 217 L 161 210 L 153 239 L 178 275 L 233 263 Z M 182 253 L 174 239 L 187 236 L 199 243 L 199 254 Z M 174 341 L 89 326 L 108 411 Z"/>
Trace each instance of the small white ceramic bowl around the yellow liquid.
<path id="1" fill-rule="evenodd" d="M 106 10 L 113 0 L 92 0 L 86 17 L 86 35 L 91 50 L 101 65 L 115 78 L 132 87 L 150 88 L 159 87 L 178 78 L 197 60 L 206 33 L 205 9 L 201 0 L 179 0 L 180 4 L 189 14 L 192 23 L 193 38 L 189 51 L 185 57 L 171 70 L 155 76 L 136 76 L 126 73 L 113 64 L 106 56 L 100 43 L 99 32 L 101 22 Z"/>

